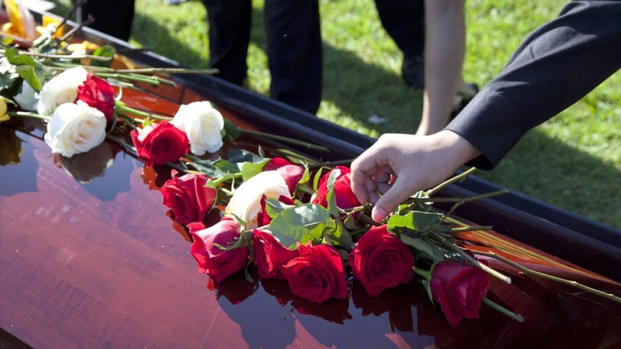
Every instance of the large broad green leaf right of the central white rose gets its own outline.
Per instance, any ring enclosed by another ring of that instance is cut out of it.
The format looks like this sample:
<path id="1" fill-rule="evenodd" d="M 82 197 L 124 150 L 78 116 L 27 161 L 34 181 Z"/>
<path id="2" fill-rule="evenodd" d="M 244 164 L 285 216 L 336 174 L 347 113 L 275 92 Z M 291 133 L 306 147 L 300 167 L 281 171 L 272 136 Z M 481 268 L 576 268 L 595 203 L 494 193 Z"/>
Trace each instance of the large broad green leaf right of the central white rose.
<path id="1" fill-rule="evenodd" d="M 334 222 L 325 208 L 307 203 L 286 208 L 273 217 L 269 230 L 283 246 L 297 248 L 296 243 L 320 241 L 323 232 L 333 229 Z"/>

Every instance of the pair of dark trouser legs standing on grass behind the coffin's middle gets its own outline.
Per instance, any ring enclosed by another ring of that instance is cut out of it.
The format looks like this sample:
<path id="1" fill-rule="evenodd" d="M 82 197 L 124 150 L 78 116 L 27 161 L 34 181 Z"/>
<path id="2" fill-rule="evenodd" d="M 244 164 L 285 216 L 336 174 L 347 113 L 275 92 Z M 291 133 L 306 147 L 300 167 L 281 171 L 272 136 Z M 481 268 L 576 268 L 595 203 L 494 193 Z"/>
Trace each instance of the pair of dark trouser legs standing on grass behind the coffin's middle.
<path id="1" fill-rule="evenodd" d="M 202 0 L 209 24 L 209 65 L 218 77 L 246 79 L 251 0 Z M 310 113 L 321 101 L 323 55 L 318 0 L 266 0 L 263 9 L 270 95 Z"/>

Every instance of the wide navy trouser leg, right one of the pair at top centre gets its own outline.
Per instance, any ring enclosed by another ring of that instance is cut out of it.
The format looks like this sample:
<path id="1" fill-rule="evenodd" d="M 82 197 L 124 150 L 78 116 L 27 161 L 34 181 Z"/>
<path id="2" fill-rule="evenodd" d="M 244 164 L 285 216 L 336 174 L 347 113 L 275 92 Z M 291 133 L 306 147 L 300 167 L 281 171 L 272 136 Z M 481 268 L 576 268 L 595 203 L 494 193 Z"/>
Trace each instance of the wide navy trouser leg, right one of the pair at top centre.
<path id="1" fill-rule="evenodd" d="M 264 11 L 271 97 L 316 113 L 323 71 L 318 0 L 266 0 Z"/>

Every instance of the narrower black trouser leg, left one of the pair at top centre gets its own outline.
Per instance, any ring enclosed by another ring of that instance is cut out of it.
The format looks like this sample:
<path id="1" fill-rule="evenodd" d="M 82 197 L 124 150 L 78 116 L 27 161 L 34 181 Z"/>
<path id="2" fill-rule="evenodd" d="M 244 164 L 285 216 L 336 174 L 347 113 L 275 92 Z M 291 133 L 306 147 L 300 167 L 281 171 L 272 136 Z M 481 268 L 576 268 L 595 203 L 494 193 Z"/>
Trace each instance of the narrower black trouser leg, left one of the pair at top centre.
<path id="1" fill-rule="evenodd" d="M 242 85 L 248 74 L 251 0 L 202 0 L 209 25 L 209 66 L 218 78 Z"/>

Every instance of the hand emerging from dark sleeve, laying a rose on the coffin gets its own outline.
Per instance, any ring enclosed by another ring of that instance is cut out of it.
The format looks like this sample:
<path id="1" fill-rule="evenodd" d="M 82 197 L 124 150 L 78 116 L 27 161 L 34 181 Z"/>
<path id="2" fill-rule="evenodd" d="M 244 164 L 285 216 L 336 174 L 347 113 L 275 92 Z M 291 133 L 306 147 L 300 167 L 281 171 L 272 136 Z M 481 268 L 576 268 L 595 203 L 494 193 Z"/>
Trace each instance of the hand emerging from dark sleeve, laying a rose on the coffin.
<path id="1" fill-rule="evenodd" d="M 351 188 L 360 203 L 374 203 L 382 221 L 405 199 L 450 177 L 480 152 L 453 131 L 430 136 L 387 133 L 351 163 Z"/>

